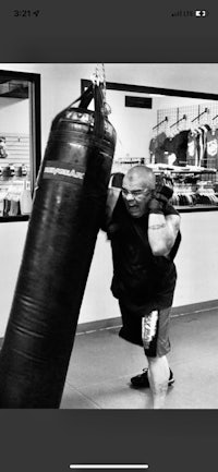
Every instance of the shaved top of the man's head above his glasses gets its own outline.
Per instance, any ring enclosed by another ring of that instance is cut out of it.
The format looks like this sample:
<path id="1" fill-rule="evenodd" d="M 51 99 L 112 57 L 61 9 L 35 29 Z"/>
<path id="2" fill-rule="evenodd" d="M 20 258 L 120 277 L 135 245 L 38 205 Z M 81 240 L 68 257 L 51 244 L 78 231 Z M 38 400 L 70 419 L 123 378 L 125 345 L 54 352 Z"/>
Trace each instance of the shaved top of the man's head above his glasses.
<path id="1" fill-rule="evenodd" d="M 125 174 L 123 185 L 137 183 L 144 189 L 155 189 L 155 174 L 149 167 L 134 166 Z"/>

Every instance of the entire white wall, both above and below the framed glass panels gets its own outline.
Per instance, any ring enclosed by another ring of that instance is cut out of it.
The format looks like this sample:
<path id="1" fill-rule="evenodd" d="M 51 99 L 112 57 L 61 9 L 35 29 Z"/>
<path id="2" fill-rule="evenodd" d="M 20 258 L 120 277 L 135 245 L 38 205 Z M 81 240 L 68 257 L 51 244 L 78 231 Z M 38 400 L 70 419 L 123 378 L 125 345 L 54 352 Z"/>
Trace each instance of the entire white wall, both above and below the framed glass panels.
<path id="1" fill-rule="evenodd" d="M 95 64 L 1 63 L 0 69 L 40 73 L 44 154 L 52 119 L 80 96 L 81 78 L 90 78 Z M 106 74 L 108 82 L 218 94 L 218 64 L 106 64 Z M 217 221 L 216 211 L 182 215 L 175 306 L 217 299 Z M 0 225 L 0 336 L 10 312 L 26 229 L 26 222 Z M 111 273 L 109 243 L 99 233 L 80 323 L 119 315 L 109 290 Z"/>

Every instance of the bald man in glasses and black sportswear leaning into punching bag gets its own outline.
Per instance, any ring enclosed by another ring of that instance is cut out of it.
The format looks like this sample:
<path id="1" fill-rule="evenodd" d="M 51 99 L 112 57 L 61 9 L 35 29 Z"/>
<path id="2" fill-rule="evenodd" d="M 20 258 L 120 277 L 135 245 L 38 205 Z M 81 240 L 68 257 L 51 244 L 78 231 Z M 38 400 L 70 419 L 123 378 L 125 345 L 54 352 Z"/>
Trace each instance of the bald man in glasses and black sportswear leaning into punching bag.
<path id="1" fill-rule="evenodd" d="M 111 291 L 122 315 L 120 337 L 143 346 L 148 370 L 132 384 L 149 383 L 154 409 L 165 407 L 172 378 L 169 317 L 177 280 L 173 258 L 180 234 L 180 215 L 170 205 L 172 187 L 159 189 L 146 166 L 135 166 L 124 176 L 122 190 L 110 189 L 105 229 L 111 242 L 113 278 Z"/>

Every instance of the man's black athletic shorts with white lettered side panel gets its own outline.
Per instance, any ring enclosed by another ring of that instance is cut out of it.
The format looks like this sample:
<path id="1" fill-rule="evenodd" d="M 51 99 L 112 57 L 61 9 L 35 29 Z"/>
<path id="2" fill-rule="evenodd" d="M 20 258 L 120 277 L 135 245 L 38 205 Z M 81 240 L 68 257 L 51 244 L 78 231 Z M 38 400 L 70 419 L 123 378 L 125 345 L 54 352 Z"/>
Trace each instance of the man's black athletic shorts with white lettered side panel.
<path id="1" fill-rule="evenodd" d="M 170 351 L 171 307 L 158 310 L 156 314 L 152 312 L 142 318 L 132 314 L 121 302 L 119 304 L 123 324 L 119 336 L 126 341 L 142 346 L 148 358 L 166 355 Z"/>

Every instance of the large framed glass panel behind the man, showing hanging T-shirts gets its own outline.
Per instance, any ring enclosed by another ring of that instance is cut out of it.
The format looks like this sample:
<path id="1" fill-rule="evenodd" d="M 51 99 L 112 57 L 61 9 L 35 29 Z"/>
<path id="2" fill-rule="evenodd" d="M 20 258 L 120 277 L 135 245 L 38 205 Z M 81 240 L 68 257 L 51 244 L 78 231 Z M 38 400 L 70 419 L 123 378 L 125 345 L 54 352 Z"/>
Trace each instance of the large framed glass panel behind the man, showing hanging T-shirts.
<path id="1" fill-rule="evenodd" d="M 82 92 L 89 84 L 82 80 Z M 218 209 L 218 96 L 110 82 L 106 89 L 112 173 L 144 164 L 173 179 L 180 210 Z"/>

